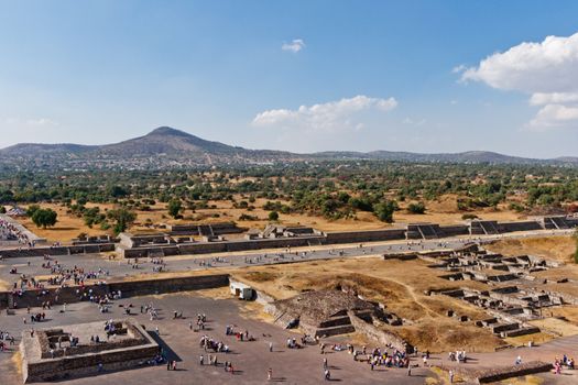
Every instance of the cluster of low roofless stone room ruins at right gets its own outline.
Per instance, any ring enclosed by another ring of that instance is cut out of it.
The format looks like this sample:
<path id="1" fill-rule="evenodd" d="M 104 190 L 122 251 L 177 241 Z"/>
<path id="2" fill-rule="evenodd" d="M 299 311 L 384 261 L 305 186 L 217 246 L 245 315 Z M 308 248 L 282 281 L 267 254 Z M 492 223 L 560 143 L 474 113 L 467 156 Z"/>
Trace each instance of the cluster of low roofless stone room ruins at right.
<path id="1" fill-rule="evenodd" d="M 503 256 L 490 253 L 476 244 L 436 255 L 422 253 L 417 254 L 417 257 L 433 262 L 429 265 L 432 268 L 447 272 L 440 278 L 487 284 L 488 289 L 462 287 L 437 290 L 435 294 L 458 298 L 483 309 L 489 317 L 477 320 L 476 326 L 489 328 L 502 338 L 539 332 L 539 328 L 528 321 L 541 318 L 542 309 L 575 300 L 568 295 L 546 290 L 531 275 L 534 272 L 559 267 L 560 264 L 554 261 L 532 255 Z M 459 318 L 454 311 L 449 311 L 448 317 Z"/>

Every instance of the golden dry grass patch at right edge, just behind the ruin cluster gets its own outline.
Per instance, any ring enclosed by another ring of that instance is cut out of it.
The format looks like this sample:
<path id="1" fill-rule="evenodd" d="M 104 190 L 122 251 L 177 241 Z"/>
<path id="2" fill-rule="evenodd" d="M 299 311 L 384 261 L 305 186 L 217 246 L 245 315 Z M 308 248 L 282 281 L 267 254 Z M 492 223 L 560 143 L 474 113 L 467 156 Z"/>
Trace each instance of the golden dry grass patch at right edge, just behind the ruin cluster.
<path id="1" fill-rule="evenodd" d="M 531 254 L 560 262 L 570 262 L 576 250 L 576 241 L 571 237 L 543 237 L 527 239 L 506 239 L 487 245 L 488 250 L 504 255 Z"/>

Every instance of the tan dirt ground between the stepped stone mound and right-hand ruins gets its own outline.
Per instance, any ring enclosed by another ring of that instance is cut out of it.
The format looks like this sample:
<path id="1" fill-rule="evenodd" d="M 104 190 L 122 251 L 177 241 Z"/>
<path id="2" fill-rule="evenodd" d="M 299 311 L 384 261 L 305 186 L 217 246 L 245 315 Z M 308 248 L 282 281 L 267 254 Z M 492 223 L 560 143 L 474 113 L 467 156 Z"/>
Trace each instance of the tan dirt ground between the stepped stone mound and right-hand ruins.
<path id="1" fill-rule="evenodd" d="M 236 278 L 279 299 L 308 289 L 355 288 L 366 298 L 384 304 L 388 311 L 402 317 L 402 327 L 384 328 L 395 331 L 419 350 L 439 352 L 464 348 L 468 351 L 493 351 L 504 344 L 489 330 L 473 326 L 473 320 L 487 318 L 480 309 L 457 299 L 424 293 L 465 284 L 438 278 L 435 271 L 422 261 L 364 257 L 250 267 L 232 273 Z M 469 282 L 466 285 L 480 287 L 482 284 Z M 468 316 L 472 321 L 459 322 L 448 318 L 446 312 L 449 309 Z"/>

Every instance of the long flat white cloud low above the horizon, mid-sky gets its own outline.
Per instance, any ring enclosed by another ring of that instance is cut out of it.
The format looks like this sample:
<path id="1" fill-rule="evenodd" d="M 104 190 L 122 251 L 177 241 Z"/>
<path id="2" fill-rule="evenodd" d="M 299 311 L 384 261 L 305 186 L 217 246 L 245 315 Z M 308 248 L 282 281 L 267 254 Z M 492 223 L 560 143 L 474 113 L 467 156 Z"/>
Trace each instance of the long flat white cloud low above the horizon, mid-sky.
<path id="1" fill-rule="evenodd" d="M 363 123 L 355 122 L 356 114 L 362 111 L 388 112 L 397 107 L 394 98 L 380 99 L 358 95 L 353 98 L 326 103 L 301 106 L 296 110 L 277 109 L 258 113 L 253 125 L 302 128 L 316 131 L 360 130 Z"/>

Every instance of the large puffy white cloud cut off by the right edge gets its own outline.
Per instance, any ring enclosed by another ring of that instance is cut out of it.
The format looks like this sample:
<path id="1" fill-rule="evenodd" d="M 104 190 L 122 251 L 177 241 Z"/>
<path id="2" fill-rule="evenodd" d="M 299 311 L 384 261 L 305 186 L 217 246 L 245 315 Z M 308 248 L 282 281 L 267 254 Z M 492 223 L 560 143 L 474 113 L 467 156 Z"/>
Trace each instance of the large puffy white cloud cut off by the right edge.
<path id="1" fill-rule="evenodd" d="M 545 128 L 578 122 L 578 33 L 547 36 L 495 53 L 462 72 L 461 80 L 530 95 L 532 106 L 544 106 L 530 122 Z"/>

